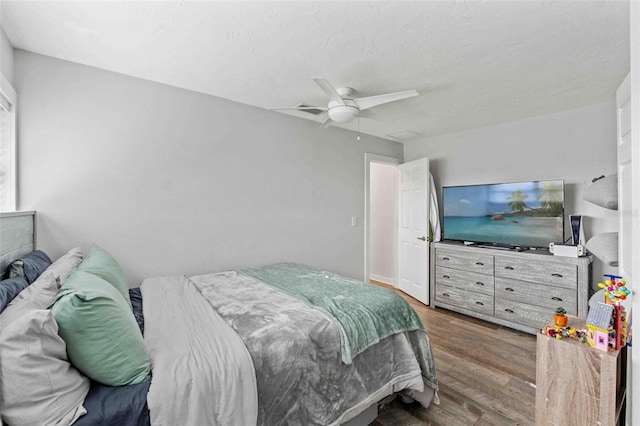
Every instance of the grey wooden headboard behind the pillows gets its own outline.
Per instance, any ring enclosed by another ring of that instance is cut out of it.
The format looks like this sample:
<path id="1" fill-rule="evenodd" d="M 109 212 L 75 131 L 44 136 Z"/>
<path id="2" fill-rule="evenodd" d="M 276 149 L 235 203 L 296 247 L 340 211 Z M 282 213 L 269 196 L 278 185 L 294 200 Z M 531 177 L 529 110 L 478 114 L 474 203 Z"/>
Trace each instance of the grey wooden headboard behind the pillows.
<path id="1" fill-rule="evenodd" d="M 36 249 L 36 212 L 0 213 L 0 273 Z"/>

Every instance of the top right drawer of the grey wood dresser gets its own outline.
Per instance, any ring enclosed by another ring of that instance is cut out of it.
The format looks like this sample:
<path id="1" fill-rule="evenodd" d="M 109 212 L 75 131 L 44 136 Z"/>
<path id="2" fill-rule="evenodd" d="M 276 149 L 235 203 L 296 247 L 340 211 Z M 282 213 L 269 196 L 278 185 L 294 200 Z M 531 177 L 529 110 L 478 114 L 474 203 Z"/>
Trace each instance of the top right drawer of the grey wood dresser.
<path id="1" fill-rule="evenodd" d="M 495 256 L 496 277 L 533 281 L 556 287 L 577 288 L 576 265 L 551 261 Z"/>

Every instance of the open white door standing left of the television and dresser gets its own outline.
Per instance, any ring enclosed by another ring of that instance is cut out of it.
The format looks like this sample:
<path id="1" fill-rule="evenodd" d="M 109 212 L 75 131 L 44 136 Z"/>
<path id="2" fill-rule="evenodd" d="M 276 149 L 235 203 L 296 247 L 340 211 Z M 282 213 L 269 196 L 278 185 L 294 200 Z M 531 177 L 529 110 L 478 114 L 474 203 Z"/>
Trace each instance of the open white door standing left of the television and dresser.
<path id="1" fill-rule="evenodd" d="M 429 159 L 398 172 L 398 288 L 429 304 Z"/>

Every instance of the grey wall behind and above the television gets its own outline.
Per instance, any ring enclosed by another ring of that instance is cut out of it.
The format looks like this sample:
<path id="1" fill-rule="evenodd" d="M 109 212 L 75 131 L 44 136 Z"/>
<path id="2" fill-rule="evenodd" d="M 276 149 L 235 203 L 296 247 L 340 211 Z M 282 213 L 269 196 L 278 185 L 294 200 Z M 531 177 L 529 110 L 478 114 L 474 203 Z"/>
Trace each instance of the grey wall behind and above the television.
<path id="1" fill-rule="evenodd" d="M 585 235 L 618 230 L 618 213 L 582 200 L 591 179 L 616 172 L 615 102 L 405 145 L 404 159 L 429 157 L 438 187 L 564 179 L 568 215 L 585 216 Z M 442 200 L 440 199 L 440 206 Z M 594 281 L 617 268 L 594 262 Z"/>

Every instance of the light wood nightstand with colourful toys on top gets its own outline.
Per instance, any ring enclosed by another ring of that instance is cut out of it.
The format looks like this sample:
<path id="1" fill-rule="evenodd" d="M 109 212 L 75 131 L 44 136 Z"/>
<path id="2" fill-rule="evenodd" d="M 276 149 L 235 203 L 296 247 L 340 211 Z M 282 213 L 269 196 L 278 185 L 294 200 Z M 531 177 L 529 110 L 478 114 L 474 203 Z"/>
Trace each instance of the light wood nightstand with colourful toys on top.
<path id="1" fill-rule="evenodd" d="M 570 316 L 568 326 L 584 329 L 585 319 Z M 626 347 L 604 352 L 538 334 L 536 425 L 624 425 L 626 365 Z"/>

